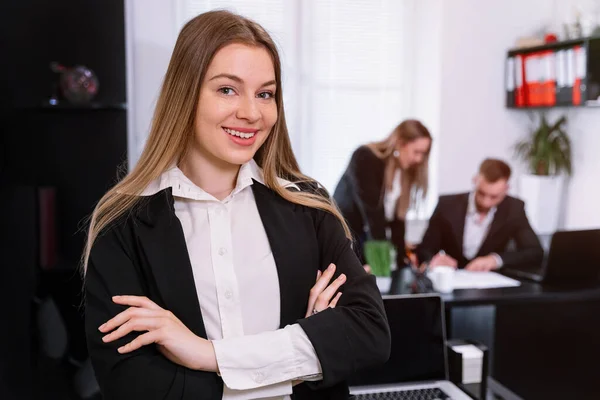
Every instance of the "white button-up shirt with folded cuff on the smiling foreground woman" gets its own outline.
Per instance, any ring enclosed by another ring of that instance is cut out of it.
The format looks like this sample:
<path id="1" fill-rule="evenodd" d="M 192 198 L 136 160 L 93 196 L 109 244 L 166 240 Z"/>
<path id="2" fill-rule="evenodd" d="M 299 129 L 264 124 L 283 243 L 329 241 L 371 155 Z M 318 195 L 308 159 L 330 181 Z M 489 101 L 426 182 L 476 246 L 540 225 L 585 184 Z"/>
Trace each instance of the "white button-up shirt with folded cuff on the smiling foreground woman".
<path id="1" fill-rule="evenodd" d="M 251 160 L 240 168 L 231 194 L 218 200 L 172 167 L 143 195 L 172 188 L 206 334 L 225 383 L 223 399 L 289 399 L 293 380 L 322 379 L 321 364 L 300 325 L 278 329 L 279 281 L 253 179 L 263 183 Z"/>

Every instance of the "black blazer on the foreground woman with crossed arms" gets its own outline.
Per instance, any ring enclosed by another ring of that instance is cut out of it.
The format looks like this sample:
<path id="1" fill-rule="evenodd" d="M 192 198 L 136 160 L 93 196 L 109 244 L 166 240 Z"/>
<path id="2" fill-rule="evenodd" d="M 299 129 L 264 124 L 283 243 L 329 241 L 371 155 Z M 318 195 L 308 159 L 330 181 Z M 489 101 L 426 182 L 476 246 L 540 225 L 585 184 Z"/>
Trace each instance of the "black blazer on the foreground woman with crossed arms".
<path id="1" fill-rule="evenodd" d="M 254 182 L 252 190 L 277 265 L 281 327 L 299 323 L 313 344 L 323 380 L 294 387 L 294 399 L 346 399 L 345 379 L 389 357 L 390 332 L 375 279 L 364 272 L 341 224 L 329 213 L 292 204 Z M 105 399 L 217 400 L 216 373 L 174 364 L 154 346 L 121 355 L 136 334 L 103 343 L 98 327 L 125 307 L 111 296 L 143 295 L 206 338 L 192 268 L 171 189 L 150 196 L 103 232 L 93 245 L 87 275 L 86 335 Z M 317 269 L 337 265 L 348 280 L 335 309 L 304 318 Z M 260 288 L 257 288 L 260 291 Z"/>

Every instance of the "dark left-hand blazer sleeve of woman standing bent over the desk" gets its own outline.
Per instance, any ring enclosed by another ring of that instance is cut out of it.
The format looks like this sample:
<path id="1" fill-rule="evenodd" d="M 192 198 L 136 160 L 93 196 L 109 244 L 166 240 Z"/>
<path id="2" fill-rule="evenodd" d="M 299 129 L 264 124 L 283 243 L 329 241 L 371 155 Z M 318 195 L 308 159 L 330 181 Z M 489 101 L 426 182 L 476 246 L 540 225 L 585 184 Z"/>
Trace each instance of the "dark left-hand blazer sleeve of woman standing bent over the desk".
<path id="1" fill-rule="evenodd" d="M 358 200 L 366 214 L 373 239 L 386 237 L 385 212 L 381 203 L 383 171 L 377 168 L 381 160 L 366 146 L 359 147 L 350 159 L 350 172 Z M 381 176 L 379 176 L 381 175 Z"/>

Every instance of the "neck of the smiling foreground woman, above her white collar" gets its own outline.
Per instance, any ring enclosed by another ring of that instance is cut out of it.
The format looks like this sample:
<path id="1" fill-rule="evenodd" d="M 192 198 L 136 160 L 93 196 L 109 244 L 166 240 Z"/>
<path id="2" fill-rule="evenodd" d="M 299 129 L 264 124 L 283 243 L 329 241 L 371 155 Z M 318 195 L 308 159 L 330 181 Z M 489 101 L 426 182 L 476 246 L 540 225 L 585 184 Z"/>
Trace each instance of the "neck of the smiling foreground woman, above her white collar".
<path id="1" fill-rule="evenodd" d="M 198 149 L 190 149 L 179 168 L 196 186 L 219 200 L 229 196 L 240 170 L 239 165 L 219 160 Z"/>

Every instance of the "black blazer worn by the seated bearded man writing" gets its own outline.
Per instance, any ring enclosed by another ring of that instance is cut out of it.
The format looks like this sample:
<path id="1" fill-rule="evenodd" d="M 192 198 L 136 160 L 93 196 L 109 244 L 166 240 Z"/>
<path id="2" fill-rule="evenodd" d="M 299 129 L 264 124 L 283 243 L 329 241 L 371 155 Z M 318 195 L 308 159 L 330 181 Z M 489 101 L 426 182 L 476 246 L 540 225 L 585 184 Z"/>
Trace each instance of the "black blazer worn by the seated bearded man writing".
<path id="1" fill-rule="evenodd" d="M 429 226 L 417 247 L 419 262 L 426 262 L 440 250 L 456 259 L 459 268 L 468 263 L 463 254 L 463 234 L 469 203 L 469 193 L 440 196 L 438 205 L 429 220 Z M 508 250 L 514 242 L 513 250 Z M 497 253 L 504 267 L 540 265 L 544 250 L 529 225 L 525 203 L 511 196 L 498 205 L 490 230 L 476 257 Z"/>

